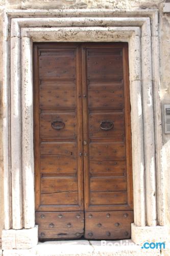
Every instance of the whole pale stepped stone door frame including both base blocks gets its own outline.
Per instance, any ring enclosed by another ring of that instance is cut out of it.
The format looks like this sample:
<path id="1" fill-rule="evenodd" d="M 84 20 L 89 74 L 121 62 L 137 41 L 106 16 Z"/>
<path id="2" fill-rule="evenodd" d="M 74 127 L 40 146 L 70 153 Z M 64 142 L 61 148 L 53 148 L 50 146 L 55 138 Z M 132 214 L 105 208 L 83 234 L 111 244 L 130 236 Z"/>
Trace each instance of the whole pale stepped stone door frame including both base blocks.
<path id="1" fill-rule="evenodd" d="M 129 43 L 134 223 L 132 240 L 165 241 L 157 10 L 4 13 L 3 249 L 31 248 L 35 226 L 33 41 Z"/>

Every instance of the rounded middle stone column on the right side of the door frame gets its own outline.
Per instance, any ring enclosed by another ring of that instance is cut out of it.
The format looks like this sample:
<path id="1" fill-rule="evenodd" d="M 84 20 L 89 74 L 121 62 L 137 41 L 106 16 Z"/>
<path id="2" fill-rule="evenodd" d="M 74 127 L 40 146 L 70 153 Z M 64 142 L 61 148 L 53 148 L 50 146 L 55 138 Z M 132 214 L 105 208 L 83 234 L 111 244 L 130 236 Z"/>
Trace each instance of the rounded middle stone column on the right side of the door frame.
<path id="1" fill-rule="evenodd" d="M 151 32 L 141 37 L 142 52 L 142 103 L 144 131 L 144 165 L 147 206 L 147 225 L 157 225 L 156 177 L 155 177 L 155 131 L 152 87 Z"/>

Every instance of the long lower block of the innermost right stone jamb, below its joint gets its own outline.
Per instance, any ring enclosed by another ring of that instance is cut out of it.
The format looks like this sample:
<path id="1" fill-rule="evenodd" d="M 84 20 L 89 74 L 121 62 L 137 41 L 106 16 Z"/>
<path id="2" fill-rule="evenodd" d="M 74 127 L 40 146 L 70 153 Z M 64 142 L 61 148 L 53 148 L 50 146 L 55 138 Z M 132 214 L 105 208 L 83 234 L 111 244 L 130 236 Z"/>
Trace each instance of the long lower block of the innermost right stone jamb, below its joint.
<path id="1" fill-rule="evenodd" d="M 134 223 L 145 226 L 145 186 L 144 186 L 144 156 L 143 156 L 143 113 L 142 113 L 141 81 L 130 84 L 131 125 L 132 125 L 132 167 L 134 193 Z M 139 133 L 140 131 L 140 133 Z M 134 146 L 135 145 L 135 146 Z M 137 157 L 135 157 L 137 156 Z"/>

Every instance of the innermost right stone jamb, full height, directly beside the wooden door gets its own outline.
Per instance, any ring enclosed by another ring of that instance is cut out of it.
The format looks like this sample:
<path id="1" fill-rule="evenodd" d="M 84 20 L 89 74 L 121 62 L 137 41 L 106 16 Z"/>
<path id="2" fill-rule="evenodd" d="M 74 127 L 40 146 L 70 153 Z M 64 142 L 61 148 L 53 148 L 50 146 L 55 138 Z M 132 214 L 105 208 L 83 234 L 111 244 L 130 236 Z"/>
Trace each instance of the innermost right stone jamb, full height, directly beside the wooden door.
<path id="1" fill-rule="evenodd" d="M 145 226 L 141 47 L 139 36 L 131 37 L 129 56 L 134 223 L 136 226 Z"/>

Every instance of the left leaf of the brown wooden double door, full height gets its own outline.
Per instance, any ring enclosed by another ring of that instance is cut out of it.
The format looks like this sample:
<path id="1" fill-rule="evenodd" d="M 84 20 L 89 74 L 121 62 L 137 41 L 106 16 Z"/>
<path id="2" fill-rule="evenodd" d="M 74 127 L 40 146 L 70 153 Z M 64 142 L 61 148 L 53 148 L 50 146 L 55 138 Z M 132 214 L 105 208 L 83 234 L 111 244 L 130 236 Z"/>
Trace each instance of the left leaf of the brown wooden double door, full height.
<path id="1" fill-rule="evenodd" d="M 40 239 L 82 236 L 80 50 L 78 44 L 34 44 L 35 194 Z M 76 214 L 81 216 L 77 223 L 76 217 L 72 220 Z M 63 223 L 60 232 L 59 223 Z"/>

